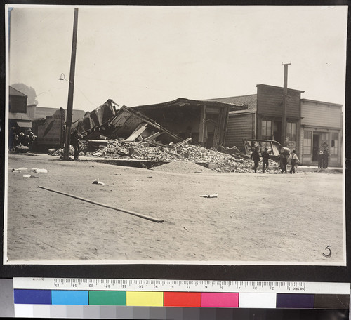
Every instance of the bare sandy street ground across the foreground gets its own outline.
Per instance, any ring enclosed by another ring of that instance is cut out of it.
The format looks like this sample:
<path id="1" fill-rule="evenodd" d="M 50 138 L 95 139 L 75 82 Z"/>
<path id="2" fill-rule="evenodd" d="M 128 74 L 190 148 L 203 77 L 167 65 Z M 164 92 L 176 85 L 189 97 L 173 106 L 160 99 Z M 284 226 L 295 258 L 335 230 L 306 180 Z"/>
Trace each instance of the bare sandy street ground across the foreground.
<path id="1" fill-rule="evenodd" d="M 26 172 L 11 171 L 20 167 L 46 168 L 48 173 L 24 178 Z M 92 184 L 96 178 L 105 185 Z M 8 261 L 342 264 L 342 190 L 341 174 L 173 173 L 10 154 Z M 328 245 L 332 255 L 325 258 Z"/>

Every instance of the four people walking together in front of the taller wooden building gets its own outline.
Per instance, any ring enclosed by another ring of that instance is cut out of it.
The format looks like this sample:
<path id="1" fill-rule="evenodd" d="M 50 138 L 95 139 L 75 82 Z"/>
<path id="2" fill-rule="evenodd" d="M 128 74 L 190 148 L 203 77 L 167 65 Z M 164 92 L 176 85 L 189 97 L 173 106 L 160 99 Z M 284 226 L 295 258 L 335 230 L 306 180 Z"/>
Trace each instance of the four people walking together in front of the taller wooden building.
<path id="1" fill-rule="evenodd" d="M 259 147 L 255 147 L 251 154 L 251 159 L 253 160 L 253 172 L 257 173 L 257 168 L 258 164 L 260 163 L 260 158 L 262 157 L 262 172 L 265 173 L 265 170 L 268 168 L 268 159 L 270 159 L 270 154 L 268 153 L 268 149 L 265 148 L 265 150 L 260 154 L 259 152 Z M 286 171 L 286 165 L 290 162 L 291 164 L 291 169 L 290 173 L 295 173 L 295 166 L 300 162 L 298 159 L 298 156 L 296 154 L 296 150 L 293 150 L 293 152 L 288 152 L 287 149 L 282 149 L 282 152 L 280 154 L 280 168 L 281 168 L 281 173 L 287 173 Z"/>

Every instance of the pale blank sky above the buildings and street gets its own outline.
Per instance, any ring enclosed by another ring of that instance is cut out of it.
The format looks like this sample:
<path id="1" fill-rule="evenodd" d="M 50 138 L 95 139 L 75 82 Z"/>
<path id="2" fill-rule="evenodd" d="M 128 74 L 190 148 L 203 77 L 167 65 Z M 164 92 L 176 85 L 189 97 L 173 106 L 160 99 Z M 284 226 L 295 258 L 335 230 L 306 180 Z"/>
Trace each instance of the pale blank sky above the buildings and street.
<path id="1" fill-rule="evenodd" d="M 345 103 L 347 6 L 77 6 L 73 109 L 256 93 Z M 67 108 L 74 6 L 11 5 L 8 84 Z"/>

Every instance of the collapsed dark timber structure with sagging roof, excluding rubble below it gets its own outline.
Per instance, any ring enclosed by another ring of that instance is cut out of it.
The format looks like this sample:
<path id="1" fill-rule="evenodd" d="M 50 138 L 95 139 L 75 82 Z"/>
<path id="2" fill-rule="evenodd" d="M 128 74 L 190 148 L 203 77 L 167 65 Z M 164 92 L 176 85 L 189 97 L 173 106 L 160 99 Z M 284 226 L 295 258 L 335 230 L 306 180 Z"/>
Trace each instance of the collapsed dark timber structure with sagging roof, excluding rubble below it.
<path id="1" fill-rule="evenodd" d="M 128 142 L 152 136 L 162 145 L 191 140 L 193 145 L 218 149 L 225 140 L 229 112 L 246 108 L 185 98 L 156 105 L 117 107 L 107 100 L 93 112 L 87 112 L 72 129 L 77 129 L 84 140 L 123 138 Z"/>

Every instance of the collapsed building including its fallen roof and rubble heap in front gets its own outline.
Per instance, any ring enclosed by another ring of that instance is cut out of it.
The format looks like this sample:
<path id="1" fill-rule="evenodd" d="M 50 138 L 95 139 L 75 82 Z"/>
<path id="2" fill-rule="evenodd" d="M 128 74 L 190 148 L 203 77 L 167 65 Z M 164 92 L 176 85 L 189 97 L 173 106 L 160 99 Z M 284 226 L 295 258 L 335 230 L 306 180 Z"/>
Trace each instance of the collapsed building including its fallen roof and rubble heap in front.
<path id="1" fill-rule="evenodd" d="M 130 108 L 107 100 L 72 130 L 79 131 L 85 155 L 107 163 L 152 168 L 185 161 L 218 172 L 248 172 L 249 156 L 222 145 L 230 110 L 245 107 L 178 98 Z M 270 167 L 277 170 L 277 164 Z"/>

